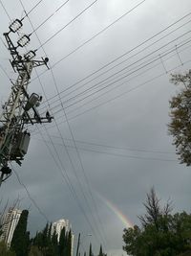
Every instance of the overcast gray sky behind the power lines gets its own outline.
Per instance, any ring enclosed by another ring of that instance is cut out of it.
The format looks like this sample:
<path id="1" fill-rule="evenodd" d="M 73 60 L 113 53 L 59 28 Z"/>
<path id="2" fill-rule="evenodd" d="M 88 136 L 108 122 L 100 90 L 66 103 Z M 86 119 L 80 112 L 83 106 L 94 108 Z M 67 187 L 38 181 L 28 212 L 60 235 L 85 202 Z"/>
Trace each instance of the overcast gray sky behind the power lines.
<path id="1" fill-rule="evenodd" d="M 24 16 L 19 1 L 1 2 L 11 20 Z M 29 12 L 38 1 L 22 3 Z M 33 28 L 38 28 L 63 3 L 42 1 L 29 14 Z M 38 126 L 39 129 L 29 127 L 30 149 L 22 167 L 14 168 L 49 221 L 69 219 L 75 243 L 81 232 L 81 251 L 91 242 L 98 253 L 98 244 L 103 243 L 109 255 L 121 255 L 125 254 L 121 250 L 124 216 L 138 223 L 137 216 L 144 213 L 142 201 L 151 186 L 155 186 L 162 201 L 174 201 L 175 211 L 190 212 L 190 168 L 179 164 L 167 124 L 168 101 L 178 90 L 169 82 L 170 73 L 190 68 L 191 2 L 98 0 L 74 19 L 92 3 L 70 0 L 39 27 L 36 33 L 43 49 L 36 35 L 31 36 L 28 49 L 39 48 L 38 58 L 46 54 L 53 73 L 39 67 L 38 74 L 46 71 L 40 76 L 40 83 L 33 70 L 29 89 L 44 96 L 39 109 L 41 113 L 50 109 L 56 123 Z M 138 3 L 141 4 L 135 8 Z M 2 5 L 0 8 L 3 38 L 10 19 Z M 21 35 L 32 33 L 27 17 L 23 23 Z M 59 33 L 55 35 L 56 32 Z M 16 74 L 2 42 L 0 47 L 3 104 L 11 90 L 8 77 L 14 81 Z M 64 178 L 68 178 L 68 184 Z M 5 201 L 19 196 L 21 207 L 30 207 L 32 234 L 45 225 L 45 218 L 14 174 L 3 184 L 1 195 Z"/>

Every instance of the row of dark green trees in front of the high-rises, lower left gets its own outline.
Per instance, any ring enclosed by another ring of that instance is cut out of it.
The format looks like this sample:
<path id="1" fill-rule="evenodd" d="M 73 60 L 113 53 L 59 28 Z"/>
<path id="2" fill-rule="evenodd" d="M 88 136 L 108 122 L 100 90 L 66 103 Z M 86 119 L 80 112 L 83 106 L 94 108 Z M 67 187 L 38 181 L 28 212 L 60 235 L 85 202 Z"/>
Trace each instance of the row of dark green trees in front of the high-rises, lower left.
<path id="1" fill-rule="evenodd" d="M 14 230 L 11 246 L 2 242 L 0 244 L 1 256 L 71 256 L 72 255 L 72 231 L 61 230 L 60 237 L 52 231 L 52 223 L 47 223 L 45 228 L 36 232 L 30 239 L 27 231 L 28 210 L 23 210 Z"/>

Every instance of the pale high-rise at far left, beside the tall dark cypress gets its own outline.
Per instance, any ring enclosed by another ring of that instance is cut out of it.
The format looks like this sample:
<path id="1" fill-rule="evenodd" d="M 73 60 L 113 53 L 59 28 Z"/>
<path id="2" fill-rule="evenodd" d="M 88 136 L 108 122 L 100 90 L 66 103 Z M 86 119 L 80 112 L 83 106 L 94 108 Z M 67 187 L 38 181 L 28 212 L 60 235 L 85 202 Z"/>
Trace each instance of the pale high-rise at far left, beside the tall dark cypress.
<path id="1" fill-rule="evenodd" d="M 4 215 L 1 221 L 2 225 L 2 235 L 0 240 L 5 241 L 8 247 L 11 246 L 12 236 L 15 230 L 15 227 L 20 219 L 22 211 L 18 209 L 10 208 L 8 213 Z"/>

